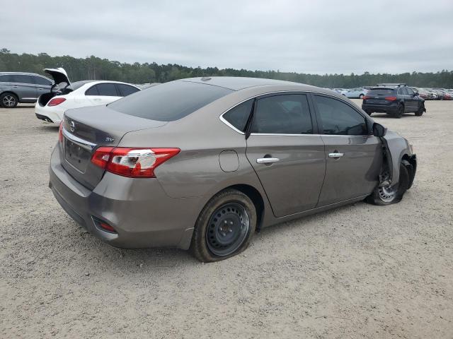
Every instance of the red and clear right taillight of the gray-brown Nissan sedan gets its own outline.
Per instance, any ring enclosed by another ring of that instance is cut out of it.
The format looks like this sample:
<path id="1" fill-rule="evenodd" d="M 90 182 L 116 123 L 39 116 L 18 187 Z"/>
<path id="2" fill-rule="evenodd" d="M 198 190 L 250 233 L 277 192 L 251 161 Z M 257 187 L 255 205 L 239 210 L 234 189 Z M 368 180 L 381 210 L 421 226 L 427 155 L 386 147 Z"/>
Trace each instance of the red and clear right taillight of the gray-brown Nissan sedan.
<path id="1" fill-rule="evenodd" d="M 179 148 L 100 147 L 91 162 L 123 177 L 154 178 L 154 169 L 179 152 Z"/>

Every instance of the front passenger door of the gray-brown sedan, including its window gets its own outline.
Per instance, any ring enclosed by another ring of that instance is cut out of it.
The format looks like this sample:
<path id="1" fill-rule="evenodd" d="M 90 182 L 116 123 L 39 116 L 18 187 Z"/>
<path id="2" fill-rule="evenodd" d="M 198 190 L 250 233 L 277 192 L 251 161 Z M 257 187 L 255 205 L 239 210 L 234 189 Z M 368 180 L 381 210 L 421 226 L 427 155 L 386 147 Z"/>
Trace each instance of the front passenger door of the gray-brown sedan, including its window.
<path id="1" fill-rule="evenodd" d="M 372 121 L 348 102 L 313 95 L 319 131 L 326 145 L 326 177 L 318 206 L 370 194 L 379 181 L 382 146 Z"/>

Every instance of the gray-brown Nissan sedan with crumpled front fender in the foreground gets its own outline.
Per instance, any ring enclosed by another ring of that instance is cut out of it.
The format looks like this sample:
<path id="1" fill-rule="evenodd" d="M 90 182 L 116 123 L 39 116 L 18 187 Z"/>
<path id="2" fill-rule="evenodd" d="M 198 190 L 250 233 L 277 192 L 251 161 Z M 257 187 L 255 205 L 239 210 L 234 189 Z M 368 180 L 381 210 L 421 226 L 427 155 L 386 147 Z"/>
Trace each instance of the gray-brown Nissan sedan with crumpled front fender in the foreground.
<path id="1" fill-rule="evenodd" d="M 64 115 L 50 188 L 113 246 L 238 254 L 261 227 L 401 200 L 411 145 L 348 99 L 258 78 L 190 78 Z"/>

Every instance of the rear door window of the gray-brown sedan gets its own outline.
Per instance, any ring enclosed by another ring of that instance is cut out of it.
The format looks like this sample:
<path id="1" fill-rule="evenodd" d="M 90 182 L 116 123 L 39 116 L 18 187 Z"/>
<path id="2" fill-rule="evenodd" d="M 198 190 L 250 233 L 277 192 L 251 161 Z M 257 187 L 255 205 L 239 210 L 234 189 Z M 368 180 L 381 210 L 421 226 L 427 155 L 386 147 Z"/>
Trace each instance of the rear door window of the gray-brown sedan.
<path id="1" fill-rule="evenodd" d="M 258 100 L 251 131 L 273 134 L 313 133 L 306 95 L 275 95 Z"/>

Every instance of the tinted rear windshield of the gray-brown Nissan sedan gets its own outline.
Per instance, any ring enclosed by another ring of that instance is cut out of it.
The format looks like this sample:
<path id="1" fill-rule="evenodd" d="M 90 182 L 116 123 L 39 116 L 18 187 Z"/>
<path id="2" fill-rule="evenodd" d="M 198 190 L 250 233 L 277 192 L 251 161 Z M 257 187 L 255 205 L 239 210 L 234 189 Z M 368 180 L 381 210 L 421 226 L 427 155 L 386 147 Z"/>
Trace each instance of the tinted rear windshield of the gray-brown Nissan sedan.
<path id="1" fill-rule="evenodd" d="M 231 92 L 233 90 L 203 83 L 172 81 L 128 95 L 108 107 L 134 117 L 174 121 Z"/>

